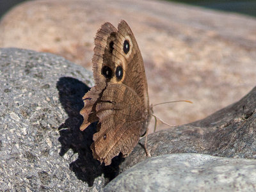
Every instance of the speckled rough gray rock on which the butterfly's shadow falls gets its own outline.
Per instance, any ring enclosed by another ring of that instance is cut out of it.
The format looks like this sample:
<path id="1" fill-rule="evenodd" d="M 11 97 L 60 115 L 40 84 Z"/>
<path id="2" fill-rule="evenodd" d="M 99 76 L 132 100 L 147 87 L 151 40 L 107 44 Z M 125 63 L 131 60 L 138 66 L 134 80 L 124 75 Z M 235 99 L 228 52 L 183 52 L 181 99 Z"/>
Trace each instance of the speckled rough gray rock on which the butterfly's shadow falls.
<path id="1" fill-rule="evenodd" d="M 87 152 L 93 131 L 79 131 L 92 74 L 22 49 L 0 49 L 0 73 L 1 190 L 100 190 L 106 179 Z"/>

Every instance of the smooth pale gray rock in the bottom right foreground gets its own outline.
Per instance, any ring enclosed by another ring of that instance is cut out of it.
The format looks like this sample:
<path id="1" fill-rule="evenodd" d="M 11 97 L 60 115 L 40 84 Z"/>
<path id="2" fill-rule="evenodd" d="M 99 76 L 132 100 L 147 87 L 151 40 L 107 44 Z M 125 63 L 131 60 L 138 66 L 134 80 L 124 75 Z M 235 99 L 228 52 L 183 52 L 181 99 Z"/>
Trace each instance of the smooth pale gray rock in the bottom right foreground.
<path id="1" fill-rule="evenodd" d="M 118 175 L 104 191 L 255 191 L 256 160 L 204 154 L 152 157 Z"/>

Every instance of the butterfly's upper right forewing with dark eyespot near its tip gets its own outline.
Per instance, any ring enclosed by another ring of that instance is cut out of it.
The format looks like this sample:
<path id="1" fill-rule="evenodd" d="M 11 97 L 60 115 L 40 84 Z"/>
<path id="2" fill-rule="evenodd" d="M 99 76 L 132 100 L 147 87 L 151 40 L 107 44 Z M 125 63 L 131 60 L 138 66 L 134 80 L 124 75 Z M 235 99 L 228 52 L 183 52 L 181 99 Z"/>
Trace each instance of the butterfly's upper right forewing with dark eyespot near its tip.
<path id="1" fill-rule="evenodd" d="M 149 108 L 148 84 L 140 49 L 131 28 L 122 20 L 114 41 L 113 60 L 124 67 L 122 83 L 138 94 L 145 109 Z"/>

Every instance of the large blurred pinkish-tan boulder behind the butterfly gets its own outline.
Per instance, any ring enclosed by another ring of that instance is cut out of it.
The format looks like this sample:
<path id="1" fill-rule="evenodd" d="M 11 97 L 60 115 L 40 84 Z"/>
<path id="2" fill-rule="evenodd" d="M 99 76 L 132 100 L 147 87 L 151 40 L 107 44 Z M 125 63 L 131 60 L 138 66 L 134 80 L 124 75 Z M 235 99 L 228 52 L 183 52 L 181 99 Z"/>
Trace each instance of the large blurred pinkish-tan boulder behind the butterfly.
<path id="1" fill-rule="evenodd" d="M 52 52 L 91 70 L 97 29 L 121 19 L 140 46 L 150 102 L 194 102 L 154 108 L 169 124 L 205 118 L 255 86 L 255 18 L 167 1 L 28 1 L 1 20 L 0 47 Z"/>

